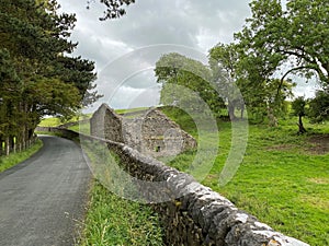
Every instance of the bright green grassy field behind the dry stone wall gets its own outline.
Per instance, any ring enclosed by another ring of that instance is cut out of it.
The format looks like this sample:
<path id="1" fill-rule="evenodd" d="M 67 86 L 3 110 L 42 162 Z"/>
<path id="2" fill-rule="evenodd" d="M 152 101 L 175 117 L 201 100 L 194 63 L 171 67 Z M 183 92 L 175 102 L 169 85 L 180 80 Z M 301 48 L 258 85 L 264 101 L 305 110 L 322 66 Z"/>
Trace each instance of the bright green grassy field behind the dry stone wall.
<path id="1" fill-rule="evenodd" d="M 186 115 L 164 112 L 195 134 Z M 276 231 L 313 246 L 329 245 L 329 153 L 310 151 L 320 147 L 309 141 L 329 133 L 329 126 L 306 121 L 308 133 L 298 136 L 296 121 L 281 120 L 277 128 L 250 125 L 243 161 L 226 186 L 219 186 L 218 179 L 231 145 L 231 126 L 218 121 L 219 154 L 202 183 Z M 198 178 L 190 166 L 195 154 L 183 153 L 168 164 Z"/>

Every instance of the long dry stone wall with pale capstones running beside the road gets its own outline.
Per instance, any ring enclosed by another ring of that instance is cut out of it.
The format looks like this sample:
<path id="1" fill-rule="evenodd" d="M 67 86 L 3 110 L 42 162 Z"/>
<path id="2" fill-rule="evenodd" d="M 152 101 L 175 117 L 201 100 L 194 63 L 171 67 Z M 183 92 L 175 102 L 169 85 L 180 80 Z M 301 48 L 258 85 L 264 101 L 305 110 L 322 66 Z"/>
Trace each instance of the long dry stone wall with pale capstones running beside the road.
<path id="1" fill-rule="evenodd" d="M 49 129 L 49 128 L 47 128 Z M 55 130 L 53 130 L 55 131 Z M 63 131 L 64 136 L 79 133 Z M 91 145 L 106 144 L 121 159 L 121 168 L 135 180 L 135 191 L 146 200 L 164 200 L 150 206 L 162 219 L 166 245 L 178 246 L 309 246 L 275 232 L 229 200 L 198 184 L 193 177 L 118 142 L 80 134 Z M 139 181 L 136 181 L 139 180 Z M 141 183 L 140 183 L 141 180 Z M 162 186 L 156 184 L 161 183 Z M 152 185 L 155 184 L 155 185 Z"/>

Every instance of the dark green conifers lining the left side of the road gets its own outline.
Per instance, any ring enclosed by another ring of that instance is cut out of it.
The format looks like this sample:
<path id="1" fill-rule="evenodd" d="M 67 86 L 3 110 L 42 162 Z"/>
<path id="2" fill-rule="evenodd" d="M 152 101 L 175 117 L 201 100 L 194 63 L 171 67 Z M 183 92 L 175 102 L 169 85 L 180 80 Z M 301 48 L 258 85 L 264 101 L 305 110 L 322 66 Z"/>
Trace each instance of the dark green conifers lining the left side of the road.
<path id="1" fill-rule="evenodd" d="M 55 0 L 1 0 L 0 141 L 7 149 L 24 147 L 44 115 L 73 115 L 95 79 L 93 62 L 70 55 L 76 17 L 58 8 Z"/>

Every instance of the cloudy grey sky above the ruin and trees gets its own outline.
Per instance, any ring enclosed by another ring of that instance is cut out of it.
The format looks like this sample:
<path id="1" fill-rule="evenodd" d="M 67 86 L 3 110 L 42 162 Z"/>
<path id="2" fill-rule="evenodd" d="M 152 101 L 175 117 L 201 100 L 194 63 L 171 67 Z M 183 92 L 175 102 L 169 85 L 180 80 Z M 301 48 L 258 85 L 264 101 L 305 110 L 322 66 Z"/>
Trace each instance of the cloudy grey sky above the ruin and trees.
<path id="1" fill-rule="evenodd" d="M 126 15 L 99 21 L 104 5 L 99 0 L 58 0 L 61 11 L 76 13 L 71 39 L 79 45 L 75 56 L 95 62 L 98 91 L 114 108 L 159 104 L 160 85 L 154 74 L 156 61 L 177 51 L 207 62 L 216 44 L 232 42 L 250 16 L 249 0 L 136 0 Z M 295 93 L 308 94 L 313 84 L 300 83 Z"/>

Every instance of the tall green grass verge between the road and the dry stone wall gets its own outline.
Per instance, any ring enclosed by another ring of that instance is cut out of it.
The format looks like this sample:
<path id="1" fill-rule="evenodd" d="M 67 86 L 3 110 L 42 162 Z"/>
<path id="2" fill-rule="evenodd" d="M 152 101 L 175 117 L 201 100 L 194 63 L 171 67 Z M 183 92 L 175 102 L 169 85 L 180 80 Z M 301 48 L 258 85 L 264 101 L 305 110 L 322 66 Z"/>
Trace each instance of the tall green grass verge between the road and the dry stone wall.
<path id="1" fill-rule="evenodd" d="M 134 187 L 122 175 L 120 156 L 106 144 L 88 140 L 80 143 L 97 178 L 80 245 L 162 245 L 158 215 L 150 207 L 123 198 Z"/>

